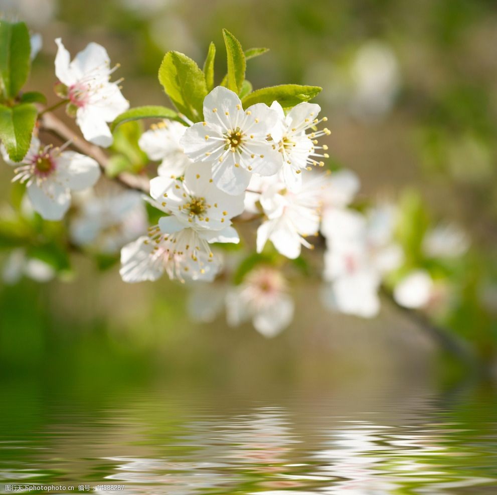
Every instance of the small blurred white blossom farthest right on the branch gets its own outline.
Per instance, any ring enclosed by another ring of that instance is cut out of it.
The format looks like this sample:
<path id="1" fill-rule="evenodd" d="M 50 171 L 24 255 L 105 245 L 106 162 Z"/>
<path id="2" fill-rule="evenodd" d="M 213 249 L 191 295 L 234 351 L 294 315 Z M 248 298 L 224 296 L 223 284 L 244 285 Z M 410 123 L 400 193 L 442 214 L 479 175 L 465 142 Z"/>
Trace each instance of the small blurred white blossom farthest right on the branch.
<path id="1" fill-rule="evenodd" d="M 439 225 L 423 239 L 424 252 L 434 258 L 457 258 L 469 249 L 469 237 L 453 224 Z"/>

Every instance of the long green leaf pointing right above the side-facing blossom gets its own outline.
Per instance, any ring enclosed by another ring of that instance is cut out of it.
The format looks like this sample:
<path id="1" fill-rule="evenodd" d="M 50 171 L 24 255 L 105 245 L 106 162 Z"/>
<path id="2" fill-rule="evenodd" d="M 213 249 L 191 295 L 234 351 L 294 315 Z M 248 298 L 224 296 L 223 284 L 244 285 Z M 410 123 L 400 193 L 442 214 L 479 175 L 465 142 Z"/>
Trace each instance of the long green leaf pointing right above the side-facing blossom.
<path id="1" fill-rule="evenodd" d="M 291 108 L 301 103 L 309 101 L 319 94 L 322 88 L 319 86 L 300 86 L 299 84 L 281 84 L 269 88 L 257 89 L 242 99 L 245 108 L 255 103 L 265 103 L 270 105 L 273 101 L 278 101 L 283 108 Z"/>

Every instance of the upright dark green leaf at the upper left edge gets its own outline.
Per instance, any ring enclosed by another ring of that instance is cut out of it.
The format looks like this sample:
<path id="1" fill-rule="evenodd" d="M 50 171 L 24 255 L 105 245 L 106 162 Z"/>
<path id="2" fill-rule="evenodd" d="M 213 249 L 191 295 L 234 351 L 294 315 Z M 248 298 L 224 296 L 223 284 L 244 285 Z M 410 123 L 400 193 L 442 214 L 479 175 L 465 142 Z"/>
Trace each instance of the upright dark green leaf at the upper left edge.
<path id="1" fill-rule="evenodd" d="M 28 79 L 30 53 L 26 24 L 0 21 L 0 92 L 4 101 L 17 96 Z"/>

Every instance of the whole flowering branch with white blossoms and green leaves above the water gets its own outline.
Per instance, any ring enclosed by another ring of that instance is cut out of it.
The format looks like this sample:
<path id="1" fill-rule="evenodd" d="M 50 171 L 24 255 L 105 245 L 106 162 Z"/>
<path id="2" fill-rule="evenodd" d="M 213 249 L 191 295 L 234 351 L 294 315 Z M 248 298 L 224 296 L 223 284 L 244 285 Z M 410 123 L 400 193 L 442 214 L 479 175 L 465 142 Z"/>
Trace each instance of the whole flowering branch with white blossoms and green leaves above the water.
<path id="1" fill-rule="evenodd" d="M 245 79 L 247 60 L 266 49 L 244 51 L 223 30 L 227 74 L 218 86 L 213 43 L 203 69 L 168 52 L 158 79 L 176 110 L 130 109 L 102 46 L 90 43 L 71 60 L 57 39 L 60 101 L 46 106 L 41 93 L 22 92 L 31 63 L 26 25 L 2 21 L 0 31 L 11 40 L 1 48 L 0 139 L 19 198 L 0 225 L 15 248 L 6 280 L 61 275 L 77 249 L 105 266 L 120 253 L 124 282 L 167 275 L 187 283 L 194 318 L 225 310 L 230 325 L 250 320 L 266 337 L 290 324 L 292 286 L 313 273 L 330 311 L 375 317 L 383 291 L 409 312 L 444 320 L 458 276 L 446 260 L 465 255 L 466 235 L 452 225 L 432 229 L 413 194 L 399 206 L 360 205 L 357 176 L 326 165 L 330 131 L 310 103 L 321 88 L 254 90 Z M 82 137 L 56 116 L 59 106 Z M 156 122 L 143 131 L 143 119 Z M 61 227 L 34 241 L 40 217 Z M 471 356 L 456 335 L 417 321 Z"/>

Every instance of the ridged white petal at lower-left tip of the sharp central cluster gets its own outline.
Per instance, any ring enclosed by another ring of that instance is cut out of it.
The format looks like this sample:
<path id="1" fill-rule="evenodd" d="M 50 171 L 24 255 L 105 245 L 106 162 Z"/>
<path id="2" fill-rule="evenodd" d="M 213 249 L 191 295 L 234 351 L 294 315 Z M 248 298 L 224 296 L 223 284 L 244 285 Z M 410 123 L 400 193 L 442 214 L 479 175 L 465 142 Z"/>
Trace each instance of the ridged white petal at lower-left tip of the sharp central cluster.
<path id="1" fill-rule="evenodd" d="M 143 236 L 121 249 L 119 274 L 124 282 L 153 281 L 162 275 L 163 264 L 160 258 L 153 256 L 153 248 L 153 243 L 148 242 L 148 238 Z"/>

